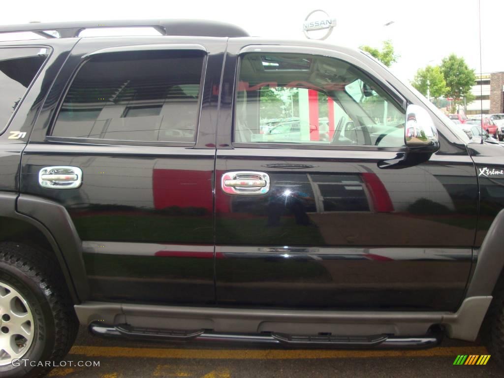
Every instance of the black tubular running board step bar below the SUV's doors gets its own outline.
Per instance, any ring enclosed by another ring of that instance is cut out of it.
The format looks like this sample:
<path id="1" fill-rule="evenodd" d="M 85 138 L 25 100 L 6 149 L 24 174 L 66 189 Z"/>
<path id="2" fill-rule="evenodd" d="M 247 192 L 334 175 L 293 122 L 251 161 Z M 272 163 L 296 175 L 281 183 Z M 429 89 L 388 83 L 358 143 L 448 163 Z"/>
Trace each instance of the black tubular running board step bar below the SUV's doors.
<path id="1" fill-rule="evenodd" d="M 212 341 L 276 344 L 303 348 L 429 348 L 442 340 L 442 334 L 422 337 L 395 337 L 390 335 L 336 336 L 336 335 L 287 335 L 281 333 L 228 334 L 208 330 L 161 330 L 138 328 L 130 325 L 107 326 L 93 322 L 89 325 L 93 335 L 109 338 L 128 338 L 150 341 Z"/>

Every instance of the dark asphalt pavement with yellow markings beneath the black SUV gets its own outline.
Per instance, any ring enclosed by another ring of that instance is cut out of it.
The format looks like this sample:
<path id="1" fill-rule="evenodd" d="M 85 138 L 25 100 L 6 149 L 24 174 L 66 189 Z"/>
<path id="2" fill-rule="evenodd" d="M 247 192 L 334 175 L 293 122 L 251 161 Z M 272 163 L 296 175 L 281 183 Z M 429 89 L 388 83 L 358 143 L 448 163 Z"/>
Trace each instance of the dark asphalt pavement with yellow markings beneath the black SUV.
<path id="1" fill-rule="evenodd" d="M 449 339 L 438 347 L 423 350 L 300 350 L 256 345 L 139 343 L 93 337 L 81 328 L 75 346 L 65 359 L 66 366 L 56 367 L 49 377 L 463 378 L 504 375 L 491 357 L 486 365 L 454 365 L 460 354 L 488 352 L 478 342 Z M 93 363 L 99 366 L 85 366 Z"/>

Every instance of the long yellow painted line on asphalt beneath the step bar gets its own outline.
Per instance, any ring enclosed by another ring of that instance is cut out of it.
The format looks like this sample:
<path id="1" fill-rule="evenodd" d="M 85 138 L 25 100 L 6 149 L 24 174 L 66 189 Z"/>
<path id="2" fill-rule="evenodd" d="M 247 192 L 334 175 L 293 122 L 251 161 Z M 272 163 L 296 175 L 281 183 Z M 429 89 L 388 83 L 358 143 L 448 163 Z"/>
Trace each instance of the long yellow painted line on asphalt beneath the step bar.
<path id="1" fill-rule="evenodd" d="M 196 358 L 196 359 L 303 359 L 303 358 L 376 358 L 439 357 L 459 354 L 488 354 L 483 346 L 436 347 L 421 350 L 250 350 L 250 349 L 170 349 L 74 346 L 70 354 L 87 357 Z"/>

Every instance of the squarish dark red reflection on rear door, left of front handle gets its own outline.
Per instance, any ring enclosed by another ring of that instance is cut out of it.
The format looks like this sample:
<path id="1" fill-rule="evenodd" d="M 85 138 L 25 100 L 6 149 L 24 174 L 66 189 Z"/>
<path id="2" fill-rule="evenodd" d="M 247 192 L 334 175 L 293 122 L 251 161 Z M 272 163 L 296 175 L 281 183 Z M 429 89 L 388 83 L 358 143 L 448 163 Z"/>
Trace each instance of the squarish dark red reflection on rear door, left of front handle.
<path id="1" fill-rule="evenodd" d="M 154 169 L 152 191 L 154 208 L 171 206 L 205 208 L 213 211 L 211 171 Z"/>

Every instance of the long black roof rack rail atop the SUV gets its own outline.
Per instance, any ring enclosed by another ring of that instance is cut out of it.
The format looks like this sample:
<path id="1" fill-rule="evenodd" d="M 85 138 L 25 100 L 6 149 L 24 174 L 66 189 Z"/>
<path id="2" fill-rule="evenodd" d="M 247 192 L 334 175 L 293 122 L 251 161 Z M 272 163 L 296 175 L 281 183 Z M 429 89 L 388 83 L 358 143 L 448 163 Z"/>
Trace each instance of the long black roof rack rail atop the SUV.
<path id="1" fill-rule="evenodd" d="M 0 26 L 0 33 L 33 32 L 45 38 L 57 38 L 50 34 L 56 31 L 59 38 L 79 37 L 85 29 L 95 28 L 152 27 L 162 35 L 195 37 L 248 37 L 239 26 L 206 20 L 111 20 L 78 22 L 32 22 L 29 24 Z"/>

